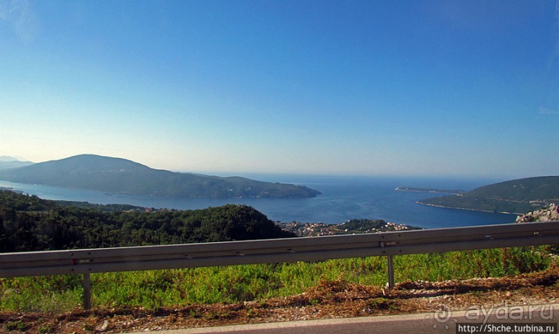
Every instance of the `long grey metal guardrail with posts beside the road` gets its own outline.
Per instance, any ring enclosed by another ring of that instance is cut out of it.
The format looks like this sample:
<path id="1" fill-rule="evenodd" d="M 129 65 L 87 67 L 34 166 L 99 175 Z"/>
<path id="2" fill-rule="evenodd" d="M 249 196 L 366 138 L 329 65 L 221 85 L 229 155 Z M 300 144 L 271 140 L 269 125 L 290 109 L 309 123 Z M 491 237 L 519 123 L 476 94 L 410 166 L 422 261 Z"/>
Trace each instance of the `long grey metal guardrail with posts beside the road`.
<path id="1" fill-rule="evenodd" d="M 387 256 L 388 281 L 392 287 L 395 255 L 557 243 L 559 221 L 224 243 L 4 253 L 0 254 L 0 277 L 83 274 L 84 307 L 89 308 L 89 274 L 94 272 Z"/>

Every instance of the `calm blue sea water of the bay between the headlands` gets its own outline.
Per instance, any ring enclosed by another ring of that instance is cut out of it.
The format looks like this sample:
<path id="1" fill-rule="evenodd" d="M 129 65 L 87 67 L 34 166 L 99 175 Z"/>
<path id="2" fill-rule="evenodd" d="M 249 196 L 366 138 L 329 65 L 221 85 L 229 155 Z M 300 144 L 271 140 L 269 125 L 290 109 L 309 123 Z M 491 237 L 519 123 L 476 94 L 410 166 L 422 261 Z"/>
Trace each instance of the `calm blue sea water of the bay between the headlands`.
<path id="1" fill-rule="evenodd" d="M 504 224 L 516 216 L 416 204 L 437 194 L 395 191 L 400 186 L 464 191 L 500 179 L 435 179 L 409 177 L 329 177 L 304 175 L 244 175 L 270 182 L 302 184 L 321 191 L 305 199 L 202 200 L 151 196 L 129 196 L 0 181 L 0 186 L 38 195 L 47 200 L 72 200 L 98 204 L 133 204 L 154 208 L 202 209 L 223 204 L 248 204 L 274 221 L 326 222 L 336 224 L 353 218 L 383 219 L 425 228 Z"/>

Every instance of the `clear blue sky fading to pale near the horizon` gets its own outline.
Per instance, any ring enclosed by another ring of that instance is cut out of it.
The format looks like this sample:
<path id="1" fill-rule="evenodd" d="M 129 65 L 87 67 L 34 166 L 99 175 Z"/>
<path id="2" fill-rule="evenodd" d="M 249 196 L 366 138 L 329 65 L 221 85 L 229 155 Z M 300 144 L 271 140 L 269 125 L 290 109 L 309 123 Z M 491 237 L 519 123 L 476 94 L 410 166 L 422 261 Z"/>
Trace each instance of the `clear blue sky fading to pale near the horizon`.
<path id="1" fill-rule="evenodd" d="M 556 1 L 0 0 L 0 155 L 558 175 Z"/>

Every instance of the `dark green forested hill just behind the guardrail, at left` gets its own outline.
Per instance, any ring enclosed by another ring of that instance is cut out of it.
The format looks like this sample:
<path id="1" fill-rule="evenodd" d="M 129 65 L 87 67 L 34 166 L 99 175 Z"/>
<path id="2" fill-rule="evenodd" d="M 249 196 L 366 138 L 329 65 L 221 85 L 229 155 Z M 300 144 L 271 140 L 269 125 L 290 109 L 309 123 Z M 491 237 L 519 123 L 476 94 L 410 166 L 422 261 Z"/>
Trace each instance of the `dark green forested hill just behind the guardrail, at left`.
<path id="1" fill-rule="evenodd" d="M 289 238 L 246 205 L 150 212 L 0 191 L 0 252 Z"/>

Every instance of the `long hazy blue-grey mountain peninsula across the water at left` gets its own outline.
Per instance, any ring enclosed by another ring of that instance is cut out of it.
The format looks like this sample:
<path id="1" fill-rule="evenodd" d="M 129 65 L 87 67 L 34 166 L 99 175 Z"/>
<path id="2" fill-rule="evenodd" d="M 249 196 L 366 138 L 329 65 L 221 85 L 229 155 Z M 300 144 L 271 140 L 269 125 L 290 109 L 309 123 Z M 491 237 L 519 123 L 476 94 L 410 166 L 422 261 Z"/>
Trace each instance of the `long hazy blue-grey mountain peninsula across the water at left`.
<path id="1" fill-rule="evenodd" d="M 157 170 L 127 159 L 77 155 L 17 168 L 0 169 L 0 179 L 26 184 L 82 188 L 109 193 L 164 197 L 314 197 L 306 186 Z"/>

